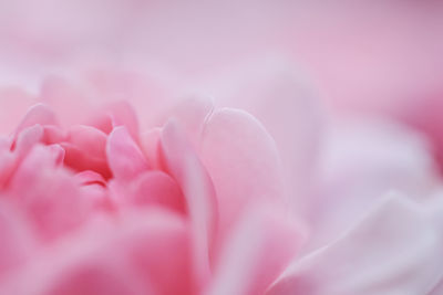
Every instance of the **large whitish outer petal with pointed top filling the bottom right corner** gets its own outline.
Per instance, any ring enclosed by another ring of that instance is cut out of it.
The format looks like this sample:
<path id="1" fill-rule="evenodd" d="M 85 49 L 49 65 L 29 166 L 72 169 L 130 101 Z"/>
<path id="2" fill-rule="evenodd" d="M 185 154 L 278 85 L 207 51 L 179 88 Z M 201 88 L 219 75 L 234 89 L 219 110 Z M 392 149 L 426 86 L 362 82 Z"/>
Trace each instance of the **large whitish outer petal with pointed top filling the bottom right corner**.
<path id="1" fill-rule="evenodd" d="M 269 295 L 429 294 L 442 280 L 443 203 L 389 197 L 349 232 L 295 262 Z"/>

